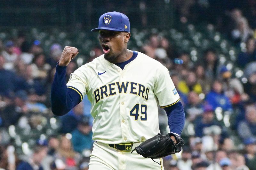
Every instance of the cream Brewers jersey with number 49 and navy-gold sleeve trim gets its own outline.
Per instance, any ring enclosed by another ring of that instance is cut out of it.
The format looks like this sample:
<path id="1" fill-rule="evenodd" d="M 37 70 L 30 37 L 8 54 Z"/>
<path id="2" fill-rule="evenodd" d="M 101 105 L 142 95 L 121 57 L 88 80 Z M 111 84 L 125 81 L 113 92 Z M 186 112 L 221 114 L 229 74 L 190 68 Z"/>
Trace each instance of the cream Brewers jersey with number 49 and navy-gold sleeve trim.
<path id="1" fill-rule="evenodd" d="M 145 141 L 159 132 L 158 105 L 180 100 L 169 71 L 138 52 L 124 70 L 104 55 L 78 68 L 67 83 L 88 96 L 92 107 L 92 139 L 106 144 Z"/>

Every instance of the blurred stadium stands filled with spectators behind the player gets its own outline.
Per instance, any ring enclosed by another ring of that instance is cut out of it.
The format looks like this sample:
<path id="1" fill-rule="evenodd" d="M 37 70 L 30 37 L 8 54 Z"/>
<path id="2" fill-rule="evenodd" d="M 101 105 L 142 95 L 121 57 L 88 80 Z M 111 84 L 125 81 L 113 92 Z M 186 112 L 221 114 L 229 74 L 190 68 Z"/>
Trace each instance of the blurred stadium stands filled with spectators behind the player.
<path id="1" fill-rule="evenodd" d="M 255 0 L 0 0 L 0 169 L 88 169 L 90 102 L 54 116 L 50 90 L 65 46 L 79 50 L 67 80 L 102 54 L 90 30 L 108 11 L 129 17 L 128 48 L 169 69 L 184 105 L 186 143 L 165 169 L 256 169 Z"/>

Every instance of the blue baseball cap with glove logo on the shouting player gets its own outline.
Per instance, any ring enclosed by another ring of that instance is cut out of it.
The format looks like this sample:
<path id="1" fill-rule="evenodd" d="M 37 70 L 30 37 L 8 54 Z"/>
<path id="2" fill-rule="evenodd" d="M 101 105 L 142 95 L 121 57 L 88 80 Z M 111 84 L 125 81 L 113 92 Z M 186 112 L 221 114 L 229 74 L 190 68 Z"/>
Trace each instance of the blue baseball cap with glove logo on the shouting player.
<path id="1" fill-rule="evenodd" d="M 129 18 L 120 12 L 107 12 L 100 16 L 99 27 L 92 31 L 111 30 L 130 32 Z"/>

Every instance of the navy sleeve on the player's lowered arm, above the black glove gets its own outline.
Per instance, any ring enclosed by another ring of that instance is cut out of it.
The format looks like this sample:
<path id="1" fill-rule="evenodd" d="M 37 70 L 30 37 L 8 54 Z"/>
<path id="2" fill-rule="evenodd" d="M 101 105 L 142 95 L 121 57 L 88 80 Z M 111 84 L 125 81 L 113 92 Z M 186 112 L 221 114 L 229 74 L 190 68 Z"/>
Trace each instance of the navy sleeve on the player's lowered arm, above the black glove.
<path id="1" fill-rule="evenodd" d="M 181 135 L 185 125 L 185 112 L 182 103 L 179 101 L 172 106 L 165 107 L 164 110 L 168 117 L 170 131 Z"/>

